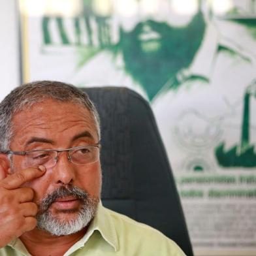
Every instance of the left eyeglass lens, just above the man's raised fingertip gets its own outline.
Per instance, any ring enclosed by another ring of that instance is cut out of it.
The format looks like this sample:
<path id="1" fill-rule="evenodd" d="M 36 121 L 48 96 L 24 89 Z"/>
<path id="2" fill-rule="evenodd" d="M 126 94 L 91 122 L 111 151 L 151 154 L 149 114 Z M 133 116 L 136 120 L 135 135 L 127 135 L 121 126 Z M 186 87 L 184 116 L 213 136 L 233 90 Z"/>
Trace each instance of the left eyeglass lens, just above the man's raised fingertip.
<path id="1" fill-rule="evenodd" d="M 25 156 L 27 167 L 38 167 L 39 165 L 44 165 L 46 168 L 49 168 L 55 165 L 57 152 L 38 150 L 27 153 Z"/>

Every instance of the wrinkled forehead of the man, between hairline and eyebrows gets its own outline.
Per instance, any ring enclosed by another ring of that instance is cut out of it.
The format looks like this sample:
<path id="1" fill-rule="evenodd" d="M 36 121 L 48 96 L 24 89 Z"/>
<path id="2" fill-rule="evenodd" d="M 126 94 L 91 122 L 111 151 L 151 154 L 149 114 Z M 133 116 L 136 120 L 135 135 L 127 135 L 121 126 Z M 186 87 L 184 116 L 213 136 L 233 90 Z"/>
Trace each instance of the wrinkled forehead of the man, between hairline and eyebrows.
<path id="1" fill-rule="evenodd" d="M 93 114 L 82 104 L 48 99 L 16 112 L 12 118 L 12 141 L 24 144 L 29 135 L 58 137 L 88 131 L 96 141 L 97 125 Z"/>

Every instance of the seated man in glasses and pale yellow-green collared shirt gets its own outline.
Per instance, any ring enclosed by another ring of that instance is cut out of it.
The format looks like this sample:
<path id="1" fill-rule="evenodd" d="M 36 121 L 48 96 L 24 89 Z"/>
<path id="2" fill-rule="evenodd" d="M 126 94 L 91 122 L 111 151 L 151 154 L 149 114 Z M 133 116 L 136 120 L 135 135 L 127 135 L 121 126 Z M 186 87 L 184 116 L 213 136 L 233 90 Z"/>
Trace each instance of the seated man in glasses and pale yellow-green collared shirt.
<path id="1" fill-rule="evenodd" d="M 0 255 L 184 255 L 102 206 L 99 116 L 86 94 L 33 82 L 0 115 Z"/>

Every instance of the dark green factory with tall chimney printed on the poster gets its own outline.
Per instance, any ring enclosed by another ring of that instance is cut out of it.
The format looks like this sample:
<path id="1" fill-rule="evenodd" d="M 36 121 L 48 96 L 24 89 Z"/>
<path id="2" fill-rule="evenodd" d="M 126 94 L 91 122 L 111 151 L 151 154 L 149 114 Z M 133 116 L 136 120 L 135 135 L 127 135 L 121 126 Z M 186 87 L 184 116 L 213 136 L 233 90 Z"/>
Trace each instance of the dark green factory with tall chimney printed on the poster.
<path id="1" fill-rule="evenodd" d="M 250 97 L 251 92 L 244 95 L 244 112 L 242 121 L 242 135 L 240 145 L 225 150 L 225 142 L 216 148 L 216 158 L 221 167 L 256 167 L 256 153 L 254 145 L 250 144 Z"/>

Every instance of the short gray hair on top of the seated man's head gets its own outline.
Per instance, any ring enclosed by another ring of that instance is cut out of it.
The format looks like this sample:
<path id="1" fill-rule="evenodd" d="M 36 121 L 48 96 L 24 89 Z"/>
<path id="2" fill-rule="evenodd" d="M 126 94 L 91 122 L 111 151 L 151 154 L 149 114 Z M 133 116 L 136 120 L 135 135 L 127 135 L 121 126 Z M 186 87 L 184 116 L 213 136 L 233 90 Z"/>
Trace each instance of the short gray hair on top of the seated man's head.
<path id="1" fill-rule="evenodd" d="M 87 108 L 95 120 L 97 135 L 100 140 L 99 114 L 88 95 L 71 84 L 44 80 L 19 86 L 11 91 L 0 103 L 0 150 L 2 152 L 9 150 L 13 136 L 12 118 L 14 115 L 46 99 L 68 101 Z"/>

